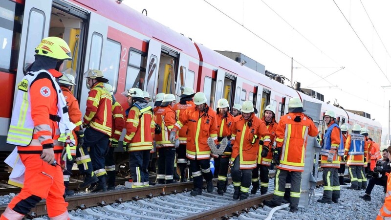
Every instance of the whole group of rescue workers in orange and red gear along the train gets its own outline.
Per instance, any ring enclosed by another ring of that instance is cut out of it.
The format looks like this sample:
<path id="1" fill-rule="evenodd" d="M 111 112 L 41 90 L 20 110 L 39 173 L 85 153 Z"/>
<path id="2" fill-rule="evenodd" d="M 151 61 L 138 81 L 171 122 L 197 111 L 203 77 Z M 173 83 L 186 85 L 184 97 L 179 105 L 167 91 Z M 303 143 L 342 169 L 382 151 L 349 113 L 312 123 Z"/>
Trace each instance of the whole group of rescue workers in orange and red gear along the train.
<path id="1" fill-rule="evenodd" d="M 62 167 L 70 171 L 73 157 L 80 173 L 86 175 L 80 189 L 89 192 L 114 189 L 114 149 L 121 145 L 123 129 L 126 134 L 122 146 L 129 153 L 132 188 L 149 186 L 148 166 L 155 142 L 156 184 L 174 182 L 176 158 L 180 181 L 187 180 L 186 166 L 190 164 L 192 196 L 202 194 L 203 178 L 207 192 L 212 193 L 213 176 L 218 179 L 217 193 L 223 195 L 230 168 L 233 198 L 242 200 L 248 198 L 251 185 L 251 194 L 258 190 L 261 194 L 267 192 L 268 170 L 275 164 L 274 196 L 264 204 L 281 205 L 286 185 L 290 185 L 290 211 L 298 211 L 306 141 L 308 136 L 318 135 L 314 122 L 304 114 L 300 98 L 289 100 L 288 113 L 277 122 L 276 109 L 271 105 L 265 107 L 261 119 L 251 101 L 230 109 L 226 99 L 219 99 L 215 111 L 207 105 L 205 94 L 195 93 L 193 88 L 184 88 L 176 104 L 174 94 L 156 94 L 152 109 L 148 93 L 130 88 L 124 93 L 130 108 L 123 111 L 103 72 L 88 70 L 84 77 L 90 91 L 82 117 L 71 92 L 76 85 L 74 76 L 59 72 L 63 61 L 72 59 L 68 45 L 61 38 L 48 37 L 36 47 L 35 53 L 35 62 L 18 86 L 17 106 L 7 138 L 9 144 L 17 146 L 26 167 L 24 187 L 0 220 L 21 220 L 43 198 L 51 220 L 69 219 L 64 197 L 74 192 L 67 188 L 70 176 L 69 172 L 63 175 Z M 349 189 L 365 188 L 363 167 L 370 159 L 373 170 L 381 157 L 380 149 L 360 125 L 353 125 L 350 135 L 347 125 L 339 127 L 333 111 L 326 111 L 324 120 L 327 130 L 321 167 L 325 185 L 323 198 L 318 202 L 338 203 L 340 184 L 345 184 L 345 165 L 350 175 Z M 390 187 L 387 192 L 391 192 Z M 391 200 L 389 195 L 386 203 Z M 385 204 L 379 216 L 391 216 L 390 210 Z"/>

